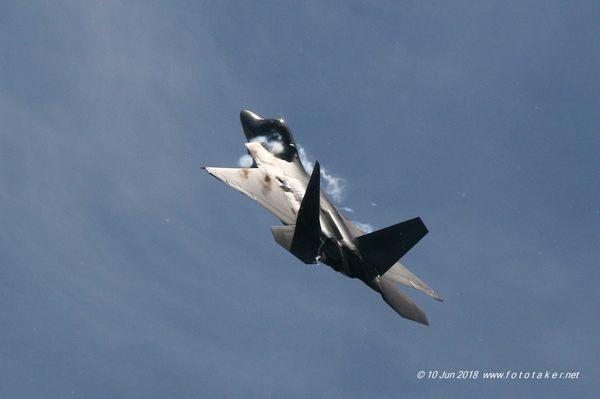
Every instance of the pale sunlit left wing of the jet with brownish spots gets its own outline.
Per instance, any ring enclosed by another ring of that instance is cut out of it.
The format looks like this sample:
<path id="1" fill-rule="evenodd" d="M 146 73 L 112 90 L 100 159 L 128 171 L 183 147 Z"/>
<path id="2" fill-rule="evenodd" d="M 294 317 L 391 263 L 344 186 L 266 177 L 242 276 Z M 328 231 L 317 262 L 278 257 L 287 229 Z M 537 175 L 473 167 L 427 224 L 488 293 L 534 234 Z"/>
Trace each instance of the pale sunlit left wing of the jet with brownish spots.
<path id="1" fill-rule="evenodd" d="M 284 224 L 294 224 L 295 210 L 277 181 L 260 168 L 213 168 L 206 171 L 272 212 Z"/>

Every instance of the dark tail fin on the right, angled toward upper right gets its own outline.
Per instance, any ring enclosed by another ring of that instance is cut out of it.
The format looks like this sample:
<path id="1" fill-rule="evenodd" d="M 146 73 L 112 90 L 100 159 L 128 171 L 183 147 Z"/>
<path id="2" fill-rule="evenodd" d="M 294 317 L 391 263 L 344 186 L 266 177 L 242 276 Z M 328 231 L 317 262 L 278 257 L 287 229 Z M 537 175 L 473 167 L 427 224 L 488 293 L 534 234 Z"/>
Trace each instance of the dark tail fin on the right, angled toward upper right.
<path id="1" fill-rule="evenodd" d="M 362 235 L 355 238 L 354 242 L 364 261 L 374 267 L 379 275 L 383 275 L 427 232 L 421 218 L 414 218 Z"/>

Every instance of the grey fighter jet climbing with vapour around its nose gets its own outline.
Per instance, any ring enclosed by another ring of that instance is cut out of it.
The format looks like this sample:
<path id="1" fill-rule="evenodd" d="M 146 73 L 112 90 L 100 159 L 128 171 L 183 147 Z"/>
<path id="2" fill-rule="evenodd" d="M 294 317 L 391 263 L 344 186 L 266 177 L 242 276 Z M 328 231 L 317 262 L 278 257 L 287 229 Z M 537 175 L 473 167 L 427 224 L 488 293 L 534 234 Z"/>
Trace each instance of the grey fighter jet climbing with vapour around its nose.
<path id="1" fill-rule="evenodd" d="M 310 175 L 306 171 L 282 119 L 262 119 L 247 110 L 240 119 L 251 167 L 204 169 L 273 213 L 283 224 L 271 227 L 275 241 L 302 262 L 323 263 L 358 278 L 400 316 L 429 325 L 423 310 L 398 286 L 442 300 L 399 262 L 427 234 L 421 218 L 365 233 L 321 190 L 319 162 Z"/>

